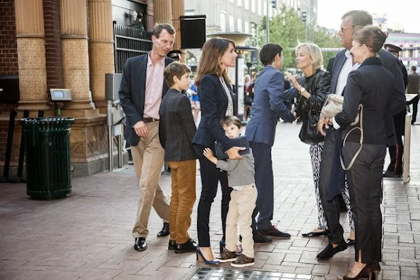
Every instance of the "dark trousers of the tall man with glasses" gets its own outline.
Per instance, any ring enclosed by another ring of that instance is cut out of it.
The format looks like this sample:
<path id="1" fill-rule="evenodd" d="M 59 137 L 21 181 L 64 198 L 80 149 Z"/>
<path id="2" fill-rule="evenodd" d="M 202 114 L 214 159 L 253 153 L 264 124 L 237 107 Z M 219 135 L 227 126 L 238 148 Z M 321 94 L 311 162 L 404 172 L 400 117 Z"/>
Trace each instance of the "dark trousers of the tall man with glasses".
<path id="1" fill-rule="evenodd" d="M 319 171 L 319 192 L 321 202 L 323 203 L 325 219 L 327 219 L 328 229 L 330 230 L 328 241 L 334 244 L 341 244 L 345 241 L 343 238 L 344 230 L 340 224 L 340 195 L 335 196 L 332 200 L 328 200 L 332 165 L 335 164 L 333 160 L 335 154 L 335 133 L 341 132 L 330 130 L 325 136 Z M 351 194 L 350 200 L 353 201 Z"/>

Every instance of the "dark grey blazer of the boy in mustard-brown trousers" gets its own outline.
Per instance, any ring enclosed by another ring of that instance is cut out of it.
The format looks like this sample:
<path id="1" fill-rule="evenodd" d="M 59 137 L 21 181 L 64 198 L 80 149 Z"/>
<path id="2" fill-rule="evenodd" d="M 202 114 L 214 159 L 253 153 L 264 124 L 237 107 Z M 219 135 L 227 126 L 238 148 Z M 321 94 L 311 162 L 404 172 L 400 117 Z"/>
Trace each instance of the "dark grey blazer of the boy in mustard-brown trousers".
<path id="1" fill-rule="evenodd" d="M 191 102 L 178 90 L 169 89 L 159 109 L 159 140 L 166 162 L 196 159 L 193 138 L 196 134 Z"/>

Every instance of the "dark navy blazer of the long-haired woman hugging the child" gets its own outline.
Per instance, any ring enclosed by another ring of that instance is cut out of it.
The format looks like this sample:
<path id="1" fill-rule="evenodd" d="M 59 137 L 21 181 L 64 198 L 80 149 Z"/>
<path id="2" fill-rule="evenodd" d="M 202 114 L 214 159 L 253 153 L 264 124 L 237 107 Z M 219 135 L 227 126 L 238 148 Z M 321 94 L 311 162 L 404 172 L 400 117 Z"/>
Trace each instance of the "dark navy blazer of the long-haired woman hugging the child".
<path id="1" fill-rule="evenodd" d="M 222 83 L 215 74 L 204 75 L 200 80 L 197 93 L 200 97 L 201 121 L 193 144 L 212 147 L 217 140 L 223 146 L 224 151 L 234 147 L 233 141 L 224 135 L 224 130 L 220 125 L 220 120 L 227 111 L 227 94 L 232 96 L 234 108 L 236 108 L 236 99 L 231 92 L 232 90 L 224 92 Z"/>

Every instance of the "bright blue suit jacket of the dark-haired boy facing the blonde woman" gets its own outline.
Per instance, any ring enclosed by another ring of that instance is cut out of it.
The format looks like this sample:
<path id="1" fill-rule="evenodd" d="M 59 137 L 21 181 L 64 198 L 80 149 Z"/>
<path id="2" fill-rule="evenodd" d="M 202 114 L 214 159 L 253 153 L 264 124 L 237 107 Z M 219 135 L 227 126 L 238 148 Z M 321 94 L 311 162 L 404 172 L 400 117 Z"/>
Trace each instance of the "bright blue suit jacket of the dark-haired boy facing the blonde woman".
<path id="1" fill-rule="evenodd" d="M 265 66 L 254 86 L 251 121 L 246 125 L 248 141 L 272 146 L 279 118 L 294 121 L 293 114 L 283 102 L 295 96 L 296 91 L 290 91 L 289 95 L 284 93 L 283 74 L 272 66 Z"/>

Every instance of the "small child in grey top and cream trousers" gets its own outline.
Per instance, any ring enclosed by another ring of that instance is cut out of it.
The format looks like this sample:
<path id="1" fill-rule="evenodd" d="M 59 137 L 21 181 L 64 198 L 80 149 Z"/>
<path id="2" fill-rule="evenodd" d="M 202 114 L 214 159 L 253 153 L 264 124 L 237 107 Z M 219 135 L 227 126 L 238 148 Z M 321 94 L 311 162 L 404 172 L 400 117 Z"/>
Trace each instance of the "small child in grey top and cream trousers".
<path id="1" fill-rule="evenodd" d="M 241 121 L 236 116 L 225 116 L 220 122 L 228 138 L 238 138 L 241 135 Z M 227 171 L 231 193 L 229 212 L 226 219 L 226 247 L 220 254 L 219 262 L 232 262 L 232 267 L 249 267 L 254 265 L 252 212 L 256 207 L 257 188 L 254 180 L 254 159 L 250 148 L 249 154 L 244 154 L 242 159 L 217 160 L 210 148 L 203 152 L 205 157 L 217 168 Z M 236 257 L 236 229 L 242 236 L 242 254 Z"/>

